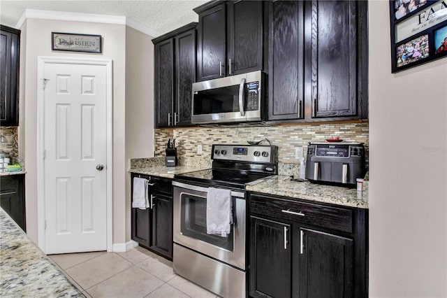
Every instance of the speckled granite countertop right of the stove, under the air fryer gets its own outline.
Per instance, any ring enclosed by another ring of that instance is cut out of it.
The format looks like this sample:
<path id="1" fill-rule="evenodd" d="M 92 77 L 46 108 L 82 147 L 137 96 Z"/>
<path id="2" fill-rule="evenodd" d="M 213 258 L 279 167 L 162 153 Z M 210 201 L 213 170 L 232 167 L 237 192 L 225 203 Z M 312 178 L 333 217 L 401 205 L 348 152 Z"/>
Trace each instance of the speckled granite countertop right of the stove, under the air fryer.
<path id="1" fill-rule="evenodd" d="M 307 201 L 368 208 L 364 192 L 357 192 L 353 188 L 321 185 L 309 181 L 292 181 L 288 176 L 275 176 L 255 185 L 247 185 L 246 190 Z"/>

